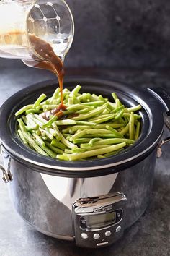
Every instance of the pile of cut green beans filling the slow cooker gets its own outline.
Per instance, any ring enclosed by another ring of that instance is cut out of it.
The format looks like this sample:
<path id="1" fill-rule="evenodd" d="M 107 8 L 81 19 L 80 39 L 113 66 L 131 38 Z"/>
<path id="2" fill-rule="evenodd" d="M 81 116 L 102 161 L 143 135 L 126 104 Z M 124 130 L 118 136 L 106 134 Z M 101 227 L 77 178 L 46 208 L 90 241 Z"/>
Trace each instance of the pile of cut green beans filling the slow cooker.
<path id="1" fill-rule="evenodd" d="M 124 106 L 116 93 L 113 102 L 102 95 L 63 90 L 66 111 L 59 118 L 53 109 L 61 103 L 60 89 L 50 98 L 40 95 L 35 103 L 24 106 L 15 114 L 17 134 L 32 150 L 64 161 L 106 158 L 120 153 L 140 136 L 141 106 Z M 50 119 L 43 114 L 50 113 Z"/>

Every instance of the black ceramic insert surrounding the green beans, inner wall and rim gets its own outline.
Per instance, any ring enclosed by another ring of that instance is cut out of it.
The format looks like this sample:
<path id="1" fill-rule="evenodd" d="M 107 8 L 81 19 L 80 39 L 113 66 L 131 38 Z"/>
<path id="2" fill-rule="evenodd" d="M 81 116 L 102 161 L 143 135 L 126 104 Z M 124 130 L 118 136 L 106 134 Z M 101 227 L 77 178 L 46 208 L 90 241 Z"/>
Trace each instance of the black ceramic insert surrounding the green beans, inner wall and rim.
<path id="1" fill-rule="evenodd" d="M 97 80 L 87 77 L 71 77 L 65 80 L 65 88 L 73 89 L 77 84 L 82 86 L 81 93 L 102 94 L 110 98 L 115 91 L 122 103 L 127 106 L 140 104 L 143 110 L 142 132 L 138 142 L 122 153 L 109 158 L 89 161 L 60 161 L 35 153 L 23 145 L 16 133 L 17 119 L 14 113 L 22 106 L 32 103 L 41 94 L 52 95 L 58 86 L 56 81 L 40 82 L 31 85 L 12 95 L 0 108 L 0 139 L 2 145 L 17 161 L 29 166 L 35 171 L 57 176 L 86 177 L 101 176 L 122 171 L 143 160 L 158 145 L 164 128 L 164 104 L 149 90 L 131 89 L 120 82 Z"/>

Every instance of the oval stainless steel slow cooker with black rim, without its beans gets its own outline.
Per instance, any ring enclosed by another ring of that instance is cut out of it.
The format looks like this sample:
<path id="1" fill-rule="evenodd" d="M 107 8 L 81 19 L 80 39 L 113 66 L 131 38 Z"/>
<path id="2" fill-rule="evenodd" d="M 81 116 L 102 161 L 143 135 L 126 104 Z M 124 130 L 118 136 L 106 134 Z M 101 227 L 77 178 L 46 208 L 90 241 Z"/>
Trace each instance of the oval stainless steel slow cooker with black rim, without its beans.
<path id="1" fill-rule="evenodd" d="M 1 170 L 14 208 L 25 221 L 48 236 L 98 248 L 120 239 L 146 210 L 170 96 L 163 89 L 133 89 L 87 77 L 70 77 L 64 85 L 71 89 L 78 83 L 81 92 L 108 98 L 115 91 L 125 105 L 140 104 L 138 141 L 117 155 L 86 161 L 60 161 L 30 150 L 17 136 L 14 113 L 58 86 L 56 81 L 40 82 L 15 93 L 0 108 Z"/>

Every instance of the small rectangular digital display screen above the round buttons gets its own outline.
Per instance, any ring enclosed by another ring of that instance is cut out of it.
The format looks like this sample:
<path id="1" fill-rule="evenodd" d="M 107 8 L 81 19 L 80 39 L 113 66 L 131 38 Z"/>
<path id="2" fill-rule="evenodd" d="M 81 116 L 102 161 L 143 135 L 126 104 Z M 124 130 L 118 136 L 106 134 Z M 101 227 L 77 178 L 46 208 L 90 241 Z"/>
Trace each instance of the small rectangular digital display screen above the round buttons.
<path id="1" fill-rule="evenodd" d="M 81 217 L 81 227 L 86 229 L 99 229 L 112 225 L 116 221 L 116 213 L 104 213 Z"/>

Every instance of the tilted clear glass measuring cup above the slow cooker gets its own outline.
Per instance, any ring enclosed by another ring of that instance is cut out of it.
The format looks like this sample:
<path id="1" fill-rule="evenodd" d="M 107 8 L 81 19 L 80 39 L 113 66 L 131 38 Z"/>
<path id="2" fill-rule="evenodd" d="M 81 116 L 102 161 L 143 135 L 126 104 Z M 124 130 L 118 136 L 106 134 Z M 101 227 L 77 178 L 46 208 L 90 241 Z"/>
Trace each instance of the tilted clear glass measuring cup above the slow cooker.
<path id="1" fill-rule="evenodd" d="M 35 47 L 32 35 L 45 42 L 63 61 L 74 35 L 73 16 L 66 2 L 1 1 L 0 56 L 22 59 L 28 66 L 36 67 L 36 61 L 46 58 L 41 54 L 43 49 Z"/>

